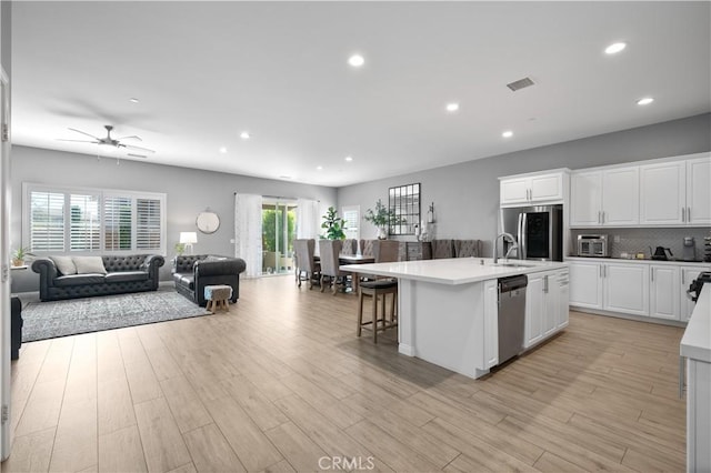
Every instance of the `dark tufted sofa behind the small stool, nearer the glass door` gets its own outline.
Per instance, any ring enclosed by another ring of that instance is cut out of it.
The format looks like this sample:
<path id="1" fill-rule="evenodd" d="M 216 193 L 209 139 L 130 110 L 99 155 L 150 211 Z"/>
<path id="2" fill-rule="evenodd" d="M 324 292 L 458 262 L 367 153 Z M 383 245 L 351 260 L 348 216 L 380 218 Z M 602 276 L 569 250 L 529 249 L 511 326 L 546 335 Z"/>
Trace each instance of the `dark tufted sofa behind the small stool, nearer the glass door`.
<path id="1" fill-rule="evenodd" d="M 180 255 L 173 259 L 176 291 L 204 308 L 204 286 L 227 284 L 232 288 L 232 302 L 240 296 L 240 273 L 247 269 L 241 258 L 213 254 Z"/>

